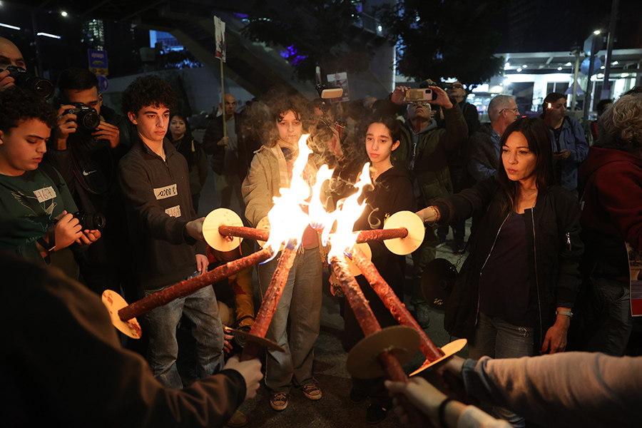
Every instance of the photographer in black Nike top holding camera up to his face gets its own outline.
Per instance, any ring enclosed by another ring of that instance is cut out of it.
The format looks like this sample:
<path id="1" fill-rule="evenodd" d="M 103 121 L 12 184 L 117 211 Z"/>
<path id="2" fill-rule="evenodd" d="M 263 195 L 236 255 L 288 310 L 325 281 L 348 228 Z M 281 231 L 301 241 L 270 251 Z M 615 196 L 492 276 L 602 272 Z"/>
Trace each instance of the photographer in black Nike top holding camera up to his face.
<path id="1" fill-rule="evenodd" d="M 123 203 L 116 190 L 116 166 L 131 146 L 132 125 L 107 106 L 98 93 L 98 78 L 82 68 L 68 68 L 58 78 L 58 126 L 49 140 L 45 161 L 60 171 L 73 200 L 91 217 L 103 215 L 103 240 L 76 260 L 82 281 L 93 291 L 126 290 L 131 258 Z"/>

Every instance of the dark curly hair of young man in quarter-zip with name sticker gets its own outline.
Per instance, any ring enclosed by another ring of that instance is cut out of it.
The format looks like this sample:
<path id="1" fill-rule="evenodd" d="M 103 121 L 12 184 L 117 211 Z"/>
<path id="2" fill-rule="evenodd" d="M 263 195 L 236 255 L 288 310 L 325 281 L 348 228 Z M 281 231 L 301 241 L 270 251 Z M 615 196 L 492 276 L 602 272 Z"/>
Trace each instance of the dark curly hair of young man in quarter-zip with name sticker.
<path id="1" fill-rule="evenodd" d="M 153 74 L 137 77 L 123 91 L 123 113 L 138 114 L 141 108 L 165 106 L 170 110 L 176 102 L 176 96 L 169 83 Z"/>

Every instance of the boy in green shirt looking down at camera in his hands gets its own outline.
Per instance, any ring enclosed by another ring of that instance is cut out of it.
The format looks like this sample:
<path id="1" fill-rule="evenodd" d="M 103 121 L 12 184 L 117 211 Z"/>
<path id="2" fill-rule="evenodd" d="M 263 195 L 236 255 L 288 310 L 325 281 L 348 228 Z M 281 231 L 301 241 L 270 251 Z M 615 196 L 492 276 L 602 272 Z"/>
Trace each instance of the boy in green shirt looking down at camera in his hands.
<path id="1" fill-rule="evenodd" d="M 0 91 L 0 248 L 56 265 L 76 279 L 70 245 L 101 232 L 78 221 L 76 203 L 58 171 L 40 166 L 56 113 L 29 91 Z M 39 168 L 40 166 L 40 168 Z"/>

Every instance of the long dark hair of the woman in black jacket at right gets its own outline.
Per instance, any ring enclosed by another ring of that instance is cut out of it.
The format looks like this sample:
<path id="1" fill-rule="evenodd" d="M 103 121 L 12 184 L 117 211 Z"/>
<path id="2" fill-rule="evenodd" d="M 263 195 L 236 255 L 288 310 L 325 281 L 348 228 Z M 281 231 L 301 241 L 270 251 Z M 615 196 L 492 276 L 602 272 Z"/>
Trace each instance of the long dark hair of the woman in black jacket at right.
<path id="1" fill-rule="evenodd" d="M 506 145 L 511 133 L 519 132 L 524 135 L 529 143 L 529 151 L 535 156 L 535 184 L 537 190 L 546 190 L 555 183 L 553 172 L 553 150 L 551 149 L 551 134 L 549 127 L 540 118 L 521 118 L 511 123 L 499 141 L 500 149 Z M 504 188 L 506 195 L 505 208 L 513 209 L 517 200 L 517 182 L 512 181 L 506 174 L 504 161 L 499 158 L 497 168 L 499 183 Z"/>

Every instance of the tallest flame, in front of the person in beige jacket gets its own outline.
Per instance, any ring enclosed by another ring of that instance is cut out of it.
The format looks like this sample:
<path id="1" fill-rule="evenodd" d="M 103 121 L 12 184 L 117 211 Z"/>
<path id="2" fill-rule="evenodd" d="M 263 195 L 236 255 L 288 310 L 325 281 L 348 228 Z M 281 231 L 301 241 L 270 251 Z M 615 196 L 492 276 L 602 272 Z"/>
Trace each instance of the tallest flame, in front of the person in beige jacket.
<path id="1" fill-rule="evenodd" d="M 292 168 L 292 183 L 290 188 L 280 188 L 280 196 L 275 196 L 274 206 L 267 214 L 270 220 L 270 238 L 265 245 L 272 250 L 272 257 L 277 255 L 282 243 L 295 250 L 301 243 L 305 227 L 310 223 L 303 207 L 307 206 L 310 198 L 310 185 L 303 178 L 303 170 L 307 164 L 307 157 L 312 151 L 307 147 L 308 134 L 299 139 L 299 155 Z M 264 262 L 265 263 L 265 262 Z"/>

